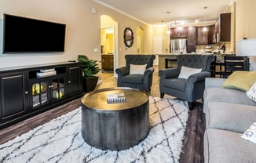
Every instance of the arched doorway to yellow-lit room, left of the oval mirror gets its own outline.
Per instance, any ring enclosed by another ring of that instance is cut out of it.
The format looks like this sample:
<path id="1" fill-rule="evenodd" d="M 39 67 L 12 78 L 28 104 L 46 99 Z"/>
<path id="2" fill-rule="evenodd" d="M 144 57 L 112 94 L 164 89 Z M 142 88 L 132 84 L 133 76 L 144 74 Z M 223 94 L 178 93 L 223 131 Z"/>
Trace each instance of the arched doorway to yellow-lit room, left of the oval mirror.
<path id="1" fill-rule="evenodd" d="M 101 66 L 103 72 L 113 72 L 119 65 L 118 23 L 111 16 L 101 16 Z"/>

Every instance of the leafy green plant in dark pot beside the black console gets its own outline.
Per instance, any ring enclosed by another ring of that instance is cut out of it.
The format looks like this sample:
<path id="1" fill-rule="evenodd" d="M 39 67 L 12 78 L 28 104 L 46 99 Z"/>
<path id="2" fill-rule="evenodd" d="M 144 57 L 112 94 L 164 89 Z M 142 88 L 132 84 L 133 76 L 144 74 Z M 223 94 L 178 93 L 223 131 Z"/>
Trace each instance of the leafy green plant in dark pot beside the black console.
<path id="1" fill-rule="evenodd" d="M 83 84 L 83 92 L 90 92 L 96 88 L 98 81 L 98 72 L 101 71 L 101 68 L 98 67 L 98 60 L 89 60 L 87 56 L 79 55 L 77 59 L 80 63 L 82 63 L 82 84 Z"/>

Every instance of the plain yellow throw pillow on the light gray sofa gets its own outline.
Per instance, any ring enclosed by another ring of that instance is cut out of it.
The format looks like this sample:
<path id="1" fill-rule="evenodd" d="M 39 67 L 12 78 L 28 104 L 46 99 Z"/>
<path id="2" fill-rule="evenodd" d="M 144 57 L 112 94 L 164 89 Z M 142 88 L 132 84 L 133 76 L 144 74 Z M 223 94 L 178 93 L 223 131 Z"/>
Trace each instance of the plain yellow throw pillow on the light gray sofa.
<path id="1" fill-rule="evenodd" d="M 235 71 L 225 80 L 222 88 L 247 92 L 256 82 L 256 71 Z"/>

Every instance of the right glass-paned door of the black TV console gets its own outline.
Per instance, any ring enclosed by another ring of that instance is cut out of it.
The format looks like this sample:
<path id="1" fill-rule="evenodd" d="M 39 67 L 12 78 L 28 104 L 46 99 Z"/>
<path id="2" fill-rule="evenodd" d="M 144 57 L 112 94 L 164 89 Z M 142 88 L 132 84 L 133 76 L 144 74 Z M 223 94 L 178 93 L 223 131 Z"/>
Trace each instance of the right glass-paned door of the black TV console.
<path id="1" fill-rule="evenodd" d="M 52 100 L 60 100 L 64 98 L 65 96 L 65 78 L 56 78 L 53 79 L 52 88 L 53 88 L 53 94 L 52 94 Z"/>

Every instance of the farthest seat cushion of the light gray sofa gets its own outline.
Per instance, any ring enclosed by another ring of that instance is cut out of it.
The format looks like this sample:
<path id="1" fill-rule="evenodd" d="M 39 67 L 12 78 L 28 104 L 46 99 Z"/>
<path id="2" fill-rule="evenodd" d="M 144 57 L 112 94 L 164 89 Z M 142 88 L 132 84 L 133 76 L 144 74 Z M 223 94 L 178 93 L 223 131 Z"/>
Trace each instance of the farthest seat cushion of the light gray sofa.
<path id="1" fill-rule="evenodd" d="M 207 114 L 209 102 L 240 103 L 256 106 L 256 102 L 249 99 L 245 92 L 236 89 L 207 88 L 203 92 L 203 112 Z"/>

